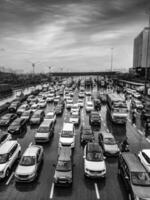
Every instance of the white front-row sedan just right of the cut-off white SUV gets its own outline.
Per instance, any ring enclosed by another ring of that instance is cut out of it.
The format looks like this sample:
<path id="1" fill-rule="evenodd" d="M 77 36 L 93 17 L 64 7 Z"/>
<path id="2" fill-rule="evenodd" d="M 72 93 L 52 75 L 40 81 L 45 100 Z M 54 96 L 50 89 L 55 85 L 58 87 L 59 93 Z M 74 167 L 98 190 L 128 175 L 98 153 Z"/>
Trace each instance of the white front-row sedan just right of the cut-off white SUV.
<path id="1" fill-rule="evenodd" d="M 21 156 L 15 171 L 16 182 L 32 182 L 38 176 L 43 162 L 44 150 L 39 145 L 29 145 Z"/>

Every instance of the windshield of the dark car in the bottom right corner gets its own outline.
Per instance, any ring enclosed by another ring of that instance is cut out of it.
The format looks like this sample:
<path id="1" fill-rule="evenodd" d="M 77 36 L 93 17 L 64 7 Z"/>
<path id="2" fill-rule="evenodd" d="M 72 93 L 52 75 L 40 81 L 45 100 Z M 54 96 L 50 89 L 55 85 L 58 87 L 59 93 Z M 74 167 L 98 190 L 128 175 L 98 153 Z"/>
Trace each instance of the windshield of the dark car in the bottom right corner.
<path id="1" fill-rule="evenodd" d="M 150 186 L 150 176 L 147 172 L 131 172 L 133 185 Z"/>

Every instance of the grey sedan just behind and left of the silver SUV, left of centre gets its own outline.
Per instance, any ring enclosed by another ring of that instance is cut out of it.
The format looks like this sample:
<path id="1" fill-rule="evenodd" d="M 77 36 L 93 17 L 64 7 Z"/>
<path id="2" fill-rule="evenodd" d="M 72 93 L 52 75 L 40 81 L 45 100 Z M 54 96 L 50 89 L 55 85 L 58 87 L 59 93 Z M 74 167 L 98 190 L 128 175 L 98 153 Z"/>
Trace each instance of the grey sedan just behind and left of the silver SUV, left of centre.
<path id="1" fill-rule="evenodd" d="M 43 110 L 37 110 L 30 118 L 31 125 L 39 125 L 44 119 L 45 113 Z"/>

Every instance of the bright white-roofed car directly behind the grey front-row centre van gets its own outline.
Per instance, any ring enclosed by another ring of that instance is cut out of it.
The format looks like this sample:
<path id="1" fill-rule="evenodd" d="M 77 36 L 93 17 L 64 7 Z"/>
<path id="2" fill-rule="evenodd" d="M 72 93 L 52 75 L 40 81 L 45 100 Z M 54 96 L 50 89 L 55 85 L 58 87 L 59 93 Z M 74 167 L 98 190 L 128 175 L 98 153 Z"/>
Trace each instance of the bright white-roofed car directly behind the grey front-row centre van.
<path id="1" fill-rule="evenodd" d="M 63 129 L 59 137 L 59 147 L 70 146 L 75 147 L 75 130 L 72 123 L 64 123 Z"/>

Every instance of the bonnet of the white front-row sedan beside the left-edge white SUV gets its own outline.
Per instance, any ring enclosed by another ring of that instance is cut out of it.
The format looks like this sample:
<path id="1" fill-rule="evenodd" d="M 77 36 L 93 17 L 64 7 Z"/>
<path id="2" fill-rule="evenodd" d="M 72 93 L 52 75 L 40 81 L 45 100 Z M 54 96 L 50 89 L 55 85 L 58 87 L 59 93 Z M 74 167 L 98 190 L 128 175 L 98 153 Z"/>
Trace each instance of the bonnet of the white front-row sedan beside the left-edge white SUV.
<path id="1" fill-rule="evenodd" d="M 18 175 L 26 175 L 26 174 L 28 175 L 28 174 L 34 173 L 35 170 L 36 170 L 35 165 L 33 165 L 33 166 L 18 165 L 15 173 L 18 174 Z"/>

